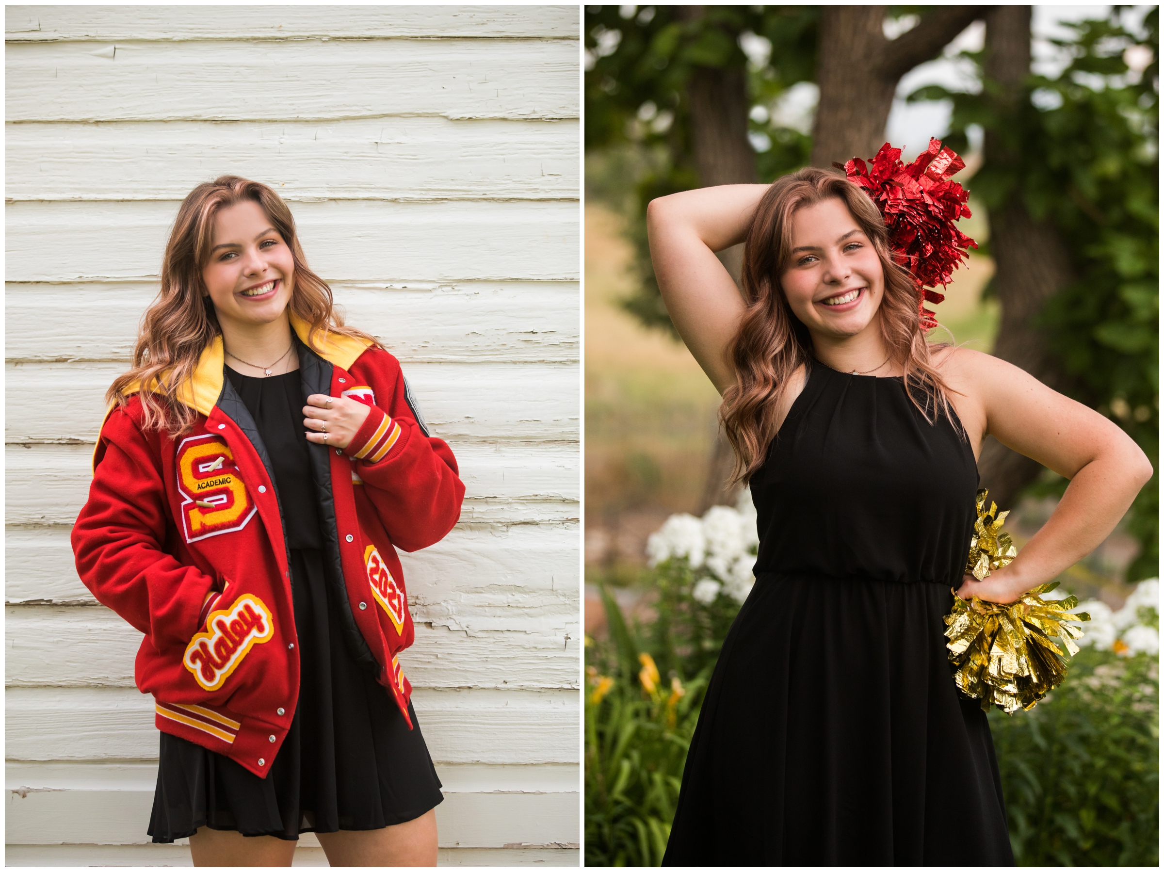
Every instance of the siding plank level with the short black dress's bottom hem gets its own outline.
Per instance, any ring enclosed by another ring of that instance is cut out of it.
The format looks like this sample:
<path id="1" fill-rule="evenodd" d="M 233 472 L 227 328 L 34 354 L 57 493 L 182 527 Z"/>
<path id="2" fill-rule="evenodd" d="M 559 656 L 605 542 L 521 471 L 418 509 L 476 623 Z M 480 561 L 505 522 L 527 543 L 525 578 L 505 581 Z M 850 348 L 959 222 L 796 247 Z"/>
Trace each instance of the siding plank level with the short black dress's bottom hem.
<path id="1" fill-rule="evenodd" d="M 154 789 L 10 789 L 5 806 L 8 844 L 148 844 Z M 577 793 L 446 793 L 436 806 L 441 848 L 577 845 Z"/>

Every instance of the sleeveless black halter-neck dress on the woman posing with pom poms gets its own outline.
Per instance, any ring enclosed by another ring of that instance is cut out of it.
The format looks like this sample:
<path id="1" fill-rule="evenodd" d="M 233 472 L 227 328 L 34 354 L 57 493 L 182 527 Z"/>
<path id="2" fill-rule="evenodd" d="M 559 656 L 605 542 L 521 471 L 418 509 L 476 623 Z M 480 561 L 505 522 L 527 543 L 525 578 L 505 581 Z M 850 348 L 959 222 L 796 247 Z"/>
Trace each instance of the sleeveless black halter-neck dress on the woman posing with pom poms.
<path id="1" fill-rule="evenodd" d="M 752 478 L 755 586 L 663 865 L 1014 865 L 986 715 L 943 636 L 977 485 L 968 442 L 900 378 L 814 363 Z"/>

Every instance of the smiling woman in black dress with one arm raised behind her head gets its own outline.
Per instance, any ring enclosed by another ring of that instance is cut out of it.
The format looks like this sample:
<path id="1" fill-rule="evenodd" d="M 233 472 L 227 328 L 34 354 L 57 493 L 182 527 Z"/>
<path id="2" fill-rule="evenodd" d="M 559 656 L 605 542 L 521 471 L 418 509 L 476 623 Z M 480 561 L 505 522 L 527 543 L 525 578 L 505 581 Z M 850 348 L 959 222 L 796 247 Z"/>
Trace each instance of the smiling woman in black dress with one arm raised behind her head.
<path id="1" fill-rule="evenodd" d="M 1050 581 L 1112 531 L 1147 458 L 1022 370 L 931 345 L 876 206 L 840 175 L 672 194 L 647 228 L 760 536 L 665 865 L 1013 864 L 986 715 L 946 661 L 951 588 L 1010 602 Z M 741 298 L 715 251 L 745 240 Z M 988 434 L 1071 484 L 977 581 Z"/>

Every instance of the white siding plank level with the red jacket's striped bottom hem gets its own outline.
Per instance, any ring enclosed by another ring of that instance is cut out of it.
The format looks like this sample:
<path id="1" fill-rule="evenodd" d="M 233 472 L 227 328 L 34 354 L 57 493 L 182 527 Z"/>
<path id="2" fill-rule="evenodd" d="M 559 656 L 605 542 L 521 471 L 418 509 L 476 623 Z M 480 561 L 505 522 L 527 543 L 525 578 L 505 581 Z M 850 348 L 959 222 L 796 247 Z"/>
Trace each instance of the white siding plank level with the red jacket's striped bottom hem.
<path id="1" fill-rule="evenodd" d="M 579 761 L 577 690 L 430 690 L 413 694 L 433 761 Z M 5 753 L 13 760 L 157 758 L 152 697 L 133 688 L 9 687 Z"/>

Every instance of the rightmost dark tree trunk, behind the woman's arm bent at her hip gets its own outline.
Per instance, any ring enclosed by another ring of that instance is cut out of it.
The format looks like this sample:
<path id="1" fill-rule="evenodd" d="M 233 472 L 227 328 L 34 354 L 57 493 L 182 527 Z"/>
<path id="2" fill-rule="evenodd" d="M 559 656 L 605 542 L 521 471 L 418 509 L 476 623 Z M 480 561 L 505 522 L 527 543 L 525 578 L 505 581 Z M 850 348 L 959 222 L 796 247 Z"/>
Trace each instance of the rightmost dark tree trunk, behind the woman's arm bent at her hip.
<path id="1" fill-rule="evenodd" d="M 982 72 L 999 86 L 1002 116 L 1029 99 L 1023 80 L 1030 75 L 1030 7 L 996 6 L 986 16 L 986 58 Z M 996 130 L 986 130 L 985 159 L 995 166 L 1013 164 L 1013 154 Z M 989 210 L 991 247 L 996 267 L 995 288 L 1002 307 L 994 356 L 1014 363 L 1050 388 L 1070 388 L 1058 362 L 1048 353 L 1034 326 L 1046 302 L 1074 281 L 1071 258 L 1055 227 L 1035 221 L 1021 198 L 1012 197 Z M 982 487 L 1009 509 L 1018 491 L 1039 473 L 1039 465 L 987 439 L 978 463 Z"/>

